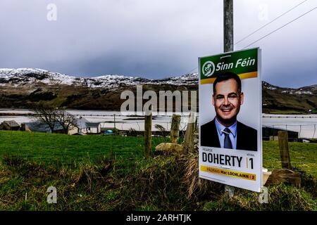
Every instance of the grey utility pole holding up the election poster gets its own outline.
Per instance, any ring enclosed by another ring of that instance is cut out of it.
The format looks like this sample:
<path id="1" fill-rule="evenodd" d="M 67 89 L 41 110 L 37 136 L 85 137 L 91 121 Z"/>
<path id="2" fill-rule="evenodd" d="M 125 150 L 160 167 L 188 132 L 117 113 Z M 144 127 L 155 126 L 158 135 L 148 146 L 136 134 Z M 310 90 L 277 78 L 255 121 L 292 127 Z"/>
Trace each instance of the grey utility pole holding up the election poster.
<path id="1" fill-rule="evenodd" d="M 233 51 L 233 0 L 223 0 L 223 51 Z M 230 198 L 235 195 L 235 188 L 225 185 Z"/>

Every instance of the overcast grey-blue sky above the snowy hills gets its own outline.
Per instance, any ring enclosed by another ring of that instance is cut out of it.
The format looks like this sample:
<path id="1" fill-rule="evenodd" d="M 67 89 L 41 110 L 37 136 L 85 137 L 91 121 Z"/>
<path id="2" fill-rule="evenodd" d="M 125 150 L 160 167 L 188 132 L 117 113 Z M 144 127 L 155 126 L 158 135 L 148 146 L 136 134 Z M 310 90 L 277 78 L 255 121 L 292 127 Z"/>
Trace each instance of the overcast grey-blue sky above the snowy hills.
<path id="1" fill-rule="evenodd" d="M 235 42 L 302 1 L 235 0 Z M 307 0 L 235 50 L 316 6 Z M 317 84 L 316 21 L 317 9 L 249 46 L 262 49 L 263 80 Z M 1 0 L 0 27 L 0 68 L 163 78 L 197 72 L 199 56 L 223 52 L 223 0 Z"/>

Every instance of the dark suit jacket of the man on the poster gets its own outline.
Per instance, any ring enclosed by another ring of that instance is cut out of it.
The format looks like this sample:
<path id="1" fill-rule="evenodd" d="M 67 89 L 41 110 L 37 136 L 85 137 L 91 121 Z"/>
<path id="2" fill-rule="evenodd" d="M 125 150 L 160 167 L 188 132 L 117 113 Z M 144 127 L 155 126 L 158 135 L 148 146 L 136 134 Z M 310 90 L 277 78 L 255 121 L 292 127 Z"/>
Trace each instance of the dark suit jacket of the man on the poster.
<path id="1" fill-rule="evenodd" d="M 216 119 L 211 120 L 200 128 L 201 146 L 220 148 L 220 141 L 216 129 Z M 258 136 L 256 129 L 248 127 L 237 121 L 237 149 L 254 150 L 258 148 Z"/>

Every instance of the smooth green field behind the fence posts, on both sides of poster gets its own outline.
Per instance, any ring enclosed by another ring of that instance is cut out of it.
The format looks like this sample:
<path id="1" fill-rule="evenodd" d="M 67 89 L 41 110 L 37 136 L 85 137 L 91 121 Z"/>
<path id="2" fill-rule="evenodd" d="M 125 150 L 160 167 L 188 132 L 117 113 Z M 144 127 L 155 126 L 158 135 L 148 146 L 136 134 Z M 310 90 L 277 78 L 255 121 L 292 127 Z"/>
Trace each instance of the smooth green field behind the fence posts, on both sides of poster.
<path id="1" fill-rule="evenodd" d="M 153 138 L 152 150 L 168 139 Z M 140 158 L 142 136 L 69 136 L 63 134 L 0 131 L 0 159 L 6 155 L 20 156 L 45 165 L 77 167 L 82 162 L 95 162 L 103 157 Z M 317 177 L 317 143 L 290 142 L 292 166 Z M 278 141 L 263 141 L 263 167 L 281 167 Z"/>

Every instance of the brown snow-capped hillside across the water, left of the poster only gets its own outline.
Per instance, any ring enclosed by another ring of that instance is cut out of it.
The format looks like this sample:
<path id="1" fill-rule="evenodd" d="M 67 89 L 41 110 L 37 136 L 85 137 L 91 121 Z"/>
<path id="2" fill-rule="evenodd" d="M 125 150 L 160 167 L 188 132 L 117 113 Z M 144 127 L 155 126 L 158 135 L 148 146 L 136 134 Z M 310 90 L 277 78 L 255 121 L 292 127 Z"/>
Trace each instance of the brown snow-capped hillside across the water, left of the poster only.
<path id="1" fill-rule="evenodd" d="M 0 69 L 0 108 L 29 108 L 32 103 L 45 101 L 55 107 L 81 110 L 120 110 L 125 100 L 122 91 L 197 90 L 197 75 L 167 79 L 144 79 L 121 75 L 71 77 L 39 69 Z"/>

